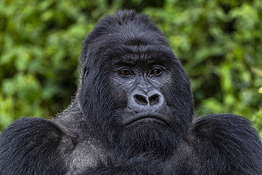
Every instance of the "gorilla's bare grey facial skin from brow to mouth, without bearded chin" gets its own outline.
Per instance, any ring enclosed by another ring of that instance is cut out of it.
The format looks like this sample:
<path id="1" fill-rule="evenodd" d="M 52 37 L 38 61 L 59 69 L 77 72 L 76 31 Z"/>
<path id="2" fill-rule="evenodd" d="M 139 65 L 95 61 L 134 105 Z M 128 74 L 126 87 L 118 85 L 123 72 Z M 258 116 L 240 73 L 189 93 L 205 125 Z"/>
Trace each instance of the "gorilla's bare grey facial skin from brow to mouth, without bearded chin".
<path id="1" fill-rule="evenodd" d="M 131 125 L 143 118 L 169 125 L 171 111 L 160 89 L 168 87 L 171 82 L 170 68 L 152 60 L 150 64 L 137 60 L 132 64 L 117 63 L 113 67 L 111 84 L 116 91 L 127 96 L 125 111 L 129 115 L 123 116 L 123 125 Z"/>

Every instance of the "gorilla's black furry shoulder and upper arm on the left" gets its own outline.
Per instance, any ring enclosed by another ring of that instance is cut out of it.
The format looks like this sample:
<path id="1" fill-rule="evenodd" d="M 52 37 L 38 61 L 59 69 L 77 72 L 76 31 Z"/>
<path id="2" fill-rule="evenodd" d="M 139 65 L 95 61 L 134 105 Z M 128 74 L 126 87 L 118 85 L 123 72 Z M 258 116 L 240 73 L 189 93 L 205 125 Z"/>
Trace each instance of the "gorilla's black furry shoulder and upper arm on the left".
<path id="1" fill-rule="evenodd" d="M 16 120 L 0 135 L 0 174 L 64 174 L 65 140 L 51 120 Z"/>

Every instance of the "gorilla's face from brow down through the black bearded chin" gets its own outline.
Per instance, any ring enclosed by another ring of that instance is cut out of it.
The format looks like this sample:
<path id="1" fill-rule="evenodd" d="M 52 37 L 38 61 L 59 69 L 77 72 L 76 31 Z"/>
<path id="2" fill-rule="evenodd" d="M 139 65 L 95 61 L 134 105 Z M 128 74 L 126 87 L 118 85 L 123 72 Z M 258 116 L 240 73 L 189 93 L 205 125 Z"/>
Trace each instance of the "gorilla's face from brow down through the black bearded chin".
<path id="1" fill-rule="evenodd" d="M 166 101 L 165 89 L 172 85 L 171 67 L 152 54 L 126 54 L 113 62 L 111 93 L 118 94 L 115 105 L 121 104 L 113 113 L 118 121 L 115 128 L 119 129 L 115 130 L 113 143 L 134 153 L 171 155 L 181 137 L 180 126 L 174 127 L 176 118 Z"/>

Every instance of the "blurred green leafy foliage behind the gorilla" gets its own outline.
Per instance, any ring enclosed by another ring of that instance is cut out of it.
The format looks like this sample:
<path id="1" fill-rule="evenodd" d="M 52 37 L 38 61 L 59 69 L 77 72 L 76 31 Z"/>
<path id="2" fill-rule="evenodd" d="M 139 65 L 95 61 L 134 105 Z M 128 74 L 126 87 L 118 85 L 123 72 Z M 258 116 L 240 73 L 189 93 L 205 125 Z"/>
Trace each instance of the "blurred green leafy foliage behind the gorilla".
<path id="1" fill-rule="evenodd" d="M 67 108 L 84 38 L 118 9 L 147 13 L 164 31 L 189 74 L 196 115 L 244 115 L 262 136 L 261 0 L 1 0 L 0 130 Z"/>

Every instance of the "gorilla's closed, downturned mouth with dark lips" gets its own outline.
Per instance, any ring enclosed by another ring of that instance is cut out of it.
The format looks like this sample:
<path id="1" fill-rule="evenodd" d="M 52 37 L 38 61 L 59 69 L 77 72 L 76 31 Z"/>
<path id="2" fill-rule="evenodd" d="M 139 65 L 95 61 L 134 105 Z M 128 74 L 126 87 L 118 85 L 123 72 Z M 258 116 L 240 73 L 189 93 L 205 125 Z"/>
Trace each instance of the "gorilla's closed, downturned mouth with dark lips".
<path id="1" fill-rule="evenodd" d="M 145 123 L 149 123 L 150 121 L 158 121 L 158 122 L 164 123 L 168 126 L 170 125 L 169 121 L 166 120 L 166 118 L 159 116 L 159 115 L 140 115 L 140 116 L 134 117 L 130 120 L 126 120 L 124 125 L 125 126 L 131 125 L 132 123 L 137 123 L 139 121 L 143 121 Z"/>

